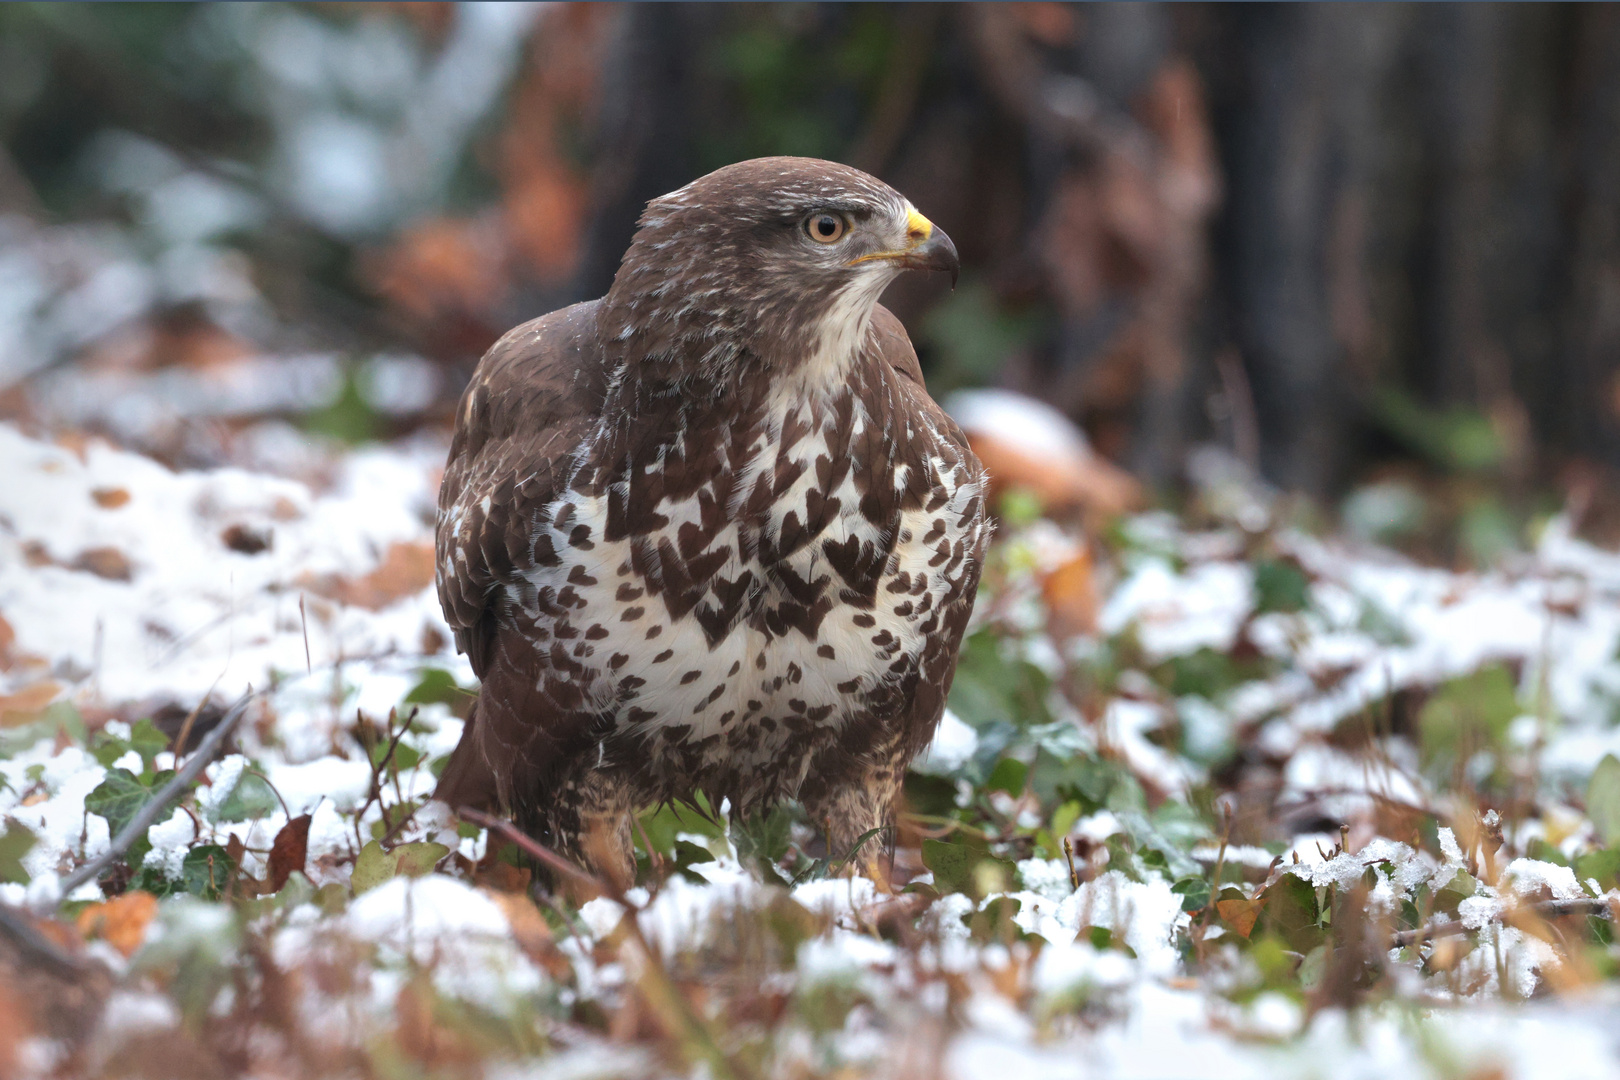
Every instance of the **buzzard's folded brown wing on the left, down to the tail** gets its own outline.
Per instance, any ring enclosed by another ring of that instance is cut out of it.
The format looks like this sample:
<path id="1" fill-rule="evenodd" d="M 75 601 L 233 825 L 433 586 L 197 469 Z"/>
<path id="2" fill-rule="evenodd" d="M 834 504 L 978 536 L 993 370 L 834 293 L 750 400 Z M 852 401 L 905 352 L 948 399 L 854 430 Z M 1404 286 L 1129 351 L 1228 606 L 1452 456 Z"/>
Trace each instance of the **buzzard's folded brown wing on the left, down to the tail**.
<path id="1" fill-rule="evenodd" d="M 514 779 L 530 771 L 522 763 L 543 758 L 539 743 L 549 742 L 546 703 L 526 670 L 533 649 L 505 640 L 518 631 L 502 604 L 536 555 L 544 559 L 533 549 L 533 521 L 567 486 L 573 450 L 601 413 L 598 304 L 509 332 L 480 361 L 457 410 L 439 487 L 439 602 L 483 690 L 439 780 L 437 797 L 452 806 L 509 801 Z"/>

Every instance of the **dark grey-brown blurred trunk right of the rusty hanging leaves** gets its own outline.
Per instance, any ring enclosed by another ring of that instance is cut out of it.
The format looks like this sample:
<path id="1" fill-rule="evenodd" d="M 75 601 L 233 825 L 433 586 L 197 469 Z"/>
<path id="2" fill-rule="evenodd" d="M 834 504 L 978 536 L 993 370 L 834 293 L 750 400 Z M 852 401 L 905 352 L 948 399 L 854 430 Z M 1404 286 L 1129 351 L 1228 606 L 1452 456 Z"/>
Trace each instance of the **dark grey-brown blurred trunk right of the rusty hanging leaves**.
<path id="1" fill-rule="evenodd" d="M 1231 191 L 1217 303 L 1272 479 L 1340 487 L 1392 393 L 1484 416 L 1508 476 L 1550 465 L 1541 449 L 1620 465 L 1615 24 L 1565 5 L 1184 19 Z"/>

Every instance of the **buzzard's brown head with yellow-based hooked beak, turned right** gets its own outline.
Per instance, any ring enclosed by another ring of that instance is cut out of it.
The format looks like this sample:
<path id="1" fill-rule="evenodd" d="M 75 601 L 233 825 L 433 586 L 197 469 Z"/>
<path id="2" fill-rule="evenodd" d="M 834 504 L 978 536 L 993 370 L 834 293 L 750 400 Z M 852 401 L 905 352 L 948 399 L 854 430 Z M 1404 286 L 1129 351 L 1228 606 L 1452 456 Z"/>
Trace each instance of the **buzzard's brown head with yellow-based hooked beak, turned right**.
<path id="1" fill-rule="evenodd" d="M 603 304 L 630 359 L 724 368 L 852 350 L 885 287 L 946 270 L 956 244 L 901 193 L 808 157 L 727 165 L 653 199 Z"/>

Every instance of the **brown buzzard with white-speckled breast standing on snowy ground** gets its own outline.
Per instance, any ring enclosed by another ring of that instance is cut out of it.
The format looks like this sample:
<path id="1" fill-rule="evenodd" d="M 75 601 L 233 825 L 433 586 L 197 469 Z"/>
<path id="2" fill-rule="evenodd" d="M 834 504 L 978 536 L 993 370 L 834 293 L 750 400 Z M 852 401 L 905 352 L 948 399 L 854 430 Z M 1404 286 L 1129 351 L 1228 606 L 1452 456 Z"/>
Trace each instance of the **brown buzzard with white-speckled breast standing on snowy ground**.
<path id="1" fill-rule="evenodd" d="M 742 162 L 653 199 L 606 296 L 484 355 L 439 491 L 481 680 L 439 798 L 620 881 L 633 814 L 698 790 L 797 798 L 834 853 L 888 826 L 990 536 L 878 304 L 906 269 L 954 282 L 956 246 L 888 185 Z"/>

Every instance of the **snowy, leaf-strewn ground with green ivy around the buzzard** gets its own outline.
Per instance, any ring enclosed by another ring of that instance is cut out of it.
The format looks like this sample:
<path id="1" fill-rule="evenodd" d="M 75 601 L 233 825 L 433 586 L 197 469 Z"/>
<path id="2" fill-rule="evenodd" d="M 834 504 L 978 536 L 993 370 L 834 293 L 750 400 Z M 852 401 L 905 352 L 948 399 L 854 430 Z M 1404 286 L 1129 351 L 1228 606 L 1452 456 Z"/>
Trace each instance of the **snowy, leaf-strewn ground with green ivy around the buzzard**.
<path id="1" fill-rule="evenodd" d="M 426 800 L 441 460 L 0 426 L 0 1075 L 1620 1074 L 1620 555 L 1565 518 L 1464 575 L 1239 483 L 1013 515 L 893 892 L 664 808 L 637 887 L 536 900 Z"/>

